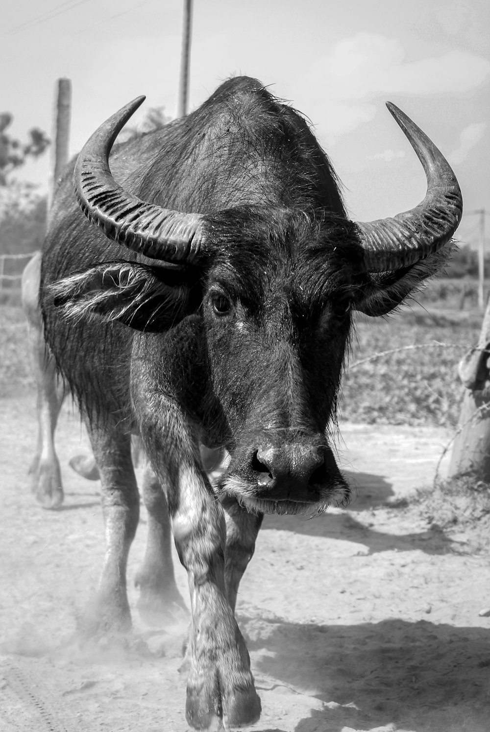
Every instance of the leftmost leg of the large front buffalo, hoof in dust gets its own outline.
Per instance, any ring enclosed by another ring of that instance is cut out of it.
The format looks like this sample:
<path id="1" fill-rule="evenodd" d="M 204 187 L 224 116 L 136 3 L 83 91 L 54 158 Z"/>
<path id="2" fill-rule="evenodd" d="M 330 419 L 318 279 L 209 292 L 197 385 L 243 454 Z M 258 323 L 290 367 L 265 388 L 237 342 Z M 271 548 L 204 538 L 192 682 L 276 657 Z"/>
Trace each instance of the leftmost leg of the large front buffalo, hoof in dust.
<path id="1" fill-rule="evenodd" d="M 94 603 L 81 623 L 82 635 L 119 635 L 130 630 L 127 555 L 139 519 L 139 494 L 130 437 L 87 425 L 100 471 L 105 523 L 105 559 Z"/>

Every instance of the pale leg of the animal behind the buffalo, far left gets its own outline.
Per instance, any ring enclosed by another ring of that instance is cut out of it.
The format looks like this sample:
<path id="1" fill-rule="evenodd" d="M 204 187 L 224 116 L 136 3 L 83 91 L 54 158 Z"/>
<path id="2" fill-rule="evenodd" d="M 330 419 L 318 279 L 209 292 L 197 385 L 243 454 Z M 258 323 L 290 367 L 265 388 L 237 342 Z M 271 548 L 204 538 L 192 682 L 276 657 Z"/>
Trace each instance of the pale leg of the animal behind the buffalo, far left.
<path id="1" fill-rule="evenodd" d="M 41 253 L 38 252 L 22 274 L 22 307 L 29 326 L 29 346 L 37 387 L 37 447 L 29 474 L 32 492 L 42 507 L 56 509 L 64 498 L 62 471 L 54 447 L 64 388 L 56 374 L 53 356 L 45 345 L 39 305 L 40 276 Z"/>

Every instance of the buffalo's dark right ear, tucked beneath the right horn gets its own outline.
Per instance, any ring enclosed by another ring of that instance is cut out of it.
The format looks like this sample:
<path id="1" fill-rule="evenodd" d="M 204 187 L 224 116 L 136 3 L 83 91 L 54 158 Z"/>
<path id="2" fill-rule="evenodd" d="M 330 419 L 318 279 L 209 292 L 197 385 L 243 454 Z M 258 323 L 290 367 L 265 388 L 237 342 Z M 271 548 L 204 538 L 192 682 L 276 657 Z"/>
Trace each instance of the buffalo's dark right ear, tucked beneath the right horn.
<path id="1" fill-rule="evenodd" d="M 369 275 L 368 281 L 360 285 L 357 290 L 354 299 L 355 309 L 373 318 L 395 310 L 404 299 L 417 294 L 423 288 L 425 280 L 444 269 L 454 247 L 455 244 L 450 242 L 439 252 L 431 254 L 417 264 L 394 272 Z"/>

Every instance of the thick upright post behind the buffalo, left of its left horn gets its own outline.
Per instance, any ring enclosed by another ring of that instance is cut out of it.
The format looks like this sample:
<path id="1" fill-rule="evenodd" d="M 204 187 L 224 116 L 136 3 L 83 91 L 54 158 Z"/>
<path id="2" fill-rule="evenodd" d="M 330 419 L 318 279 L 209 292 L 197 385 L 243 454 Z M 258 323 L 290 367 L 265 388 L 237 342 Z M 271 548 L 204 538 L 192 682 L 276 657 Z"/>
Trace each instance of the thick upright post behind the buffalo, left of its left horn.
<path id="1" fill-rule="evenodd" d="M 70 113 L 72 102 L 72 83 L 61 78 L 56 82 L 53 109 L 53 144 L 51 146 L 51 166 L 48 189 L 48 212 L 53 202 L 53 193 L 63 168 L 68 162 L 70 144 Z"/>

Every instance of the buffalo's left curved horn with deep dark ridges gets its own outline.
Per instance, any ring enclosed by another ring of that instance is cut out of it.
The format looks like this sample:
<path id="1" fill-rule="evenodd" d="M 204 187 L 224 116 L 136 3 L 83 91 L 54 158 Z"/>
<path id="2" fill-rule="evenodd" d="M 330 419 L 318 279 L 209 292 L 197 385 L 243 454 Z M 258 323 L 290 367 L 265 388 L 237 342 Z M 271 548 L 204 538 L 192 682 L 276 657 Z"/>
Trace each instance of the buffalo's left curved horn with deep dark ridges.
<path id="1" fill-rule="evenodd" d="M 116 183 L 109 168 L 114 141 L 144 98 L 111 116 L 83 147 L 73 172 L 75 195 L 89 221 L 114 242 L 153 259 L 196 261 L 204 242 L 201 215 L 141 201 Z"/>

